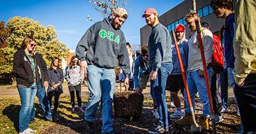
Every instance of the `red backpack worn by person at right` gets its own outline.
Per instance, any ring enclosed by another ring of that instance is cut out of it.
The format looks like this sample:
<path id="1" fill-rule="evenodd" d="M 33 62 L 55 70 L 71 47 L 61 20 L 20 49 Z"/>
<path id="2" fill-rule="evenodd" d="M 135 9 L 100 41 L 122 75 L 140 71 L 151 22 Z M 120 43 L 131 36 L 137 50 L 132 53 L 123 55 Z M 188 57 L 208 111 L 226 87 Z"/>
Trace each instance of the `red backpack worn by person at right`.
<path id="1" fill-rule="evenodd" d="M 223 47 L 221 45 L 220 37 L 216 34 L 212 35 L 213 40 L 213 54 L 212 63 L 214 73 L 221 73 L 224 70 Z"/>

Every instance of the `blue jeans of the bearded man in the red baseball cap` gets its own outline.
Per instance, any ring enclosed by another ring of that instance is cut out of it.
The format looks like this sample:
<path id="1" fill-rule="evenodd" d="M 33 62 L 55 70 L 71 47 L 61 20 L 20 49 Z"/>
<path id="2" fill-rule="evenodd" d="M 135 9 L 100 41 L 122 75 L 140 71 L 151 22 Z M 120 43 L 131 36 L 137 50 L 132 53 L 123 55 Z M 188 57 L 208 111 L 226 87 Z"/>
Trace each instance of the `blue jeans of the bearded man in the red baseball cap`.
<path id="1" fill-rule="evenodd" d="M 159 125 L 164 128 L 169 126 L 168 108 L 166 103 L 166 80 L 173 68 L 173 63 L 161 63 L 161 67 L 157 70 L 156 80 L 150 80 L 150 94 L 157 104 L 159 113 Z M 151 72 L 151 68 L 150 68 Z"/>

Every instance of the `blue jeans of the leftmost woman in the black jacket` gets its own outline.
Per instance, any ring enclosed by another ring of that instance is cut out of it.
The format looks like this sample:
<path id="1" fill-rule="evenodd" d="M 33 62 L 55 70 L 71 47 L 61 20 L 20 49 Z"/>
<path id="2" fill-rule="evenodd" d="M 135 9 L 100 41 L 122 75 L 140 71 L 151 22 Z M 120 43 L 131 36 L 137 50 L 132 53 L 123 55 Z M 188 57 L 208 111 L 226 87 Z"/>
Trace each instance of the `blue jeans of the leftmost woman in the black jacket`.
<path id="1" fill-rule="evenodd" d="M 35 84 L 29 88 L 19 88 L 20 94 L 20 113 L 19 113 L 19 131 L 24 131 L 28 128 L 31 110 L 36 97 Z"/>

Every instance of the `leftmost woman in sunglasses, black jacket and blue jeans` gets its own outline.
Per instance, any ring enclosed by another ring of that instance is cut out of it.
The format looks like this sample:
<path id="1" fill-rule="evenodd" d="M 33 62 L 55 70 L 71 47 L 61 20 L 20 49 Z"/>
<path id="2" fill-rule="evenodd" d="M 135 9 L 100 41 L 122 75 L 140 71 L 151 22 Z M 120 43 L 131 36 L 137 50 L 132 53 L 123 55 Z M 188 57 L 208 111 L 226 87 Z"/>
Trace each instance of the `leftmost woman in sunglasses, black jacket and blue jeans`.
<path id="1" fill-rule="evenodd" d="M 36 59 L 33 57 L 33 48 L 36 47 L 35 38 L 27 36 L 20 47 L 13 59 L 13 72 L 16 75 L 20 95 L 19 133 L 35 133 L 35 130 L 28 127 L 36 89 L 38 89 L 39 74 Z"/>

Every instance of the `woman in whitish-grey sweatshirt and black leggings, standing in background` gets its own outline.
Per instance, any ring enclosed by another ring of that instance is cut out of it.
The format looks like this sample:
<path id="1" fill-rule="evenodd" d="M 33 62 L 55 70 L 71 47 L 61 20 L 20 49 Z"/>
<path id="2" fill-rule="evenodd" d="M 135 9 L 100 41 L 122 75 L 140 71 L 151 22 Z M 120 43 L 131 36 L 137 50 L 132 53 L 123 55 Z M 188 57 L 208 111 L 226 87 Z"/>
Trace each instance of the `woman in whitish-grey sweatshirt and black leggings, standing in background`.
<path id="1" fill-rule="evenodd" d="M 75 91 L 78 103 L 78 110 L 84 112 L 81 101 L 81 82 L 84 80 L 84 75 L 80 73 L 80 65 L 76 56 L 73 56 L 65 69 L 65 79 L 68 82 L 68 90 L 71 98 L 71 111 L 75 112 Z"/>

